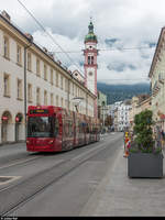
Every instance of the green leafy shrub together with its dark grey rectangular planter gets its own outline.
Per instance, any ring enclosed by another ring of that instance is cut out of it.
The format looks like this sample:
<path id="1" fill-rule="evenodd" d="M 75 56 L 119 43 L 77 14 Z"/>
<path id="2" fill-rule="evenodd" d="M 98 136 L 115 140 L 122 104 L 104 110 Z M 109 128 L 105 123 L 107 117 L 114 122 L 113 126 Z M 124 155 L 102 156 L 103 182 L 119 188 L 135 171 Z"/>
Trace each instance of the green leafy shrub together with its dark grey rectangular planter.
<path id="1" fill-rule="evenodd" d="M 128 156 L 129 177 L 163 177 L 162 147 L 153 140 L 152 111 L 145 110 L 134 117 L 134 141 Z"/>

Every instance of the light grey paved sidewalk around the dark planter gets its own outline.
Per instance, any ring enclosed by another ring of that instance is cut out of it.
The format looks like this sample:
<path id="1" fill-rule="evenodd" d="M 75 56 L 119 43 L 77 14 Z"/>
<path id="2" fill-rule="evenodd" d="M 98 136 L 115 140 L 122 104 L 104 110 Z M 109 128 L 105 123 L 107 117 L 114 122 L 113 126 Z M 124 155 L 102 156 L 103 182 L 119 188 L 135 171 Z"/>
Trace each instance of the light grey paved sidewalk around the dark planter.
<path id="1" fill-rule="evenodd" d="M 165 216 L 165 163 L 161 179 L 129 178 L 127 163 L 122 147 L 80 216 Z"/>

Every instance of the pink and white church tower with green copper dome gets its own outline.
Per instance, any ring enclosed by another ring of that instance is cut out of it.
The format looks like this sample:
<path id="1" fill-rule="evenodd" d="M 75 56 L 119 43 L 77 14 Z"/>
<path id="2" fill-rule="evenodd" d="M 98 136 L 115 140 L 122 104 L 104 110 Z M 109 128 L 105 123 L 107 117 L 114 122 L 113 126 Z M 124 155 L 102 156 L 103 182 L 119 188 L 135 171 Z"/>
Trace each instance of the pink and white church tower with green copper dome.
<path id="1" fill-rule="evenodd" d="M 85 86 L 97 97 L 97 36 L 94 33 L 94 24 L 90 21 L 88 34 L 85 36 Z M 97 99 L 95 101 L 95 117 L 97 117 Z"/>

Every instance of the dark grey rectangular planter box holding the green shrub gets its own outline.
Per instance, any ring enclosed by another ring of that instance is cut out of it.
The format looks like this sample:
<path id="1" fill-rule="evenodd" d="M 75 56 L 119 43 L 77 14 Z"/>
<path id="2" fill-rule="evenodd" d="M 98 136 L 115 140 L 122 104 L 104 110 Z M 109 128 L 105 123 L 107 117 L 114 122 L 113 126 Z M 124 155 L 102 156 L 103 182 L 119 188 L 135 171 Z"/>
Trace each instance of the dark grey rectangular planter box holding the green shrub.
<path id="1" fill-rule="evenodd" d="M 163 177 L 163 154 L 130 153 L 128 157 L 129 177 Z"/>

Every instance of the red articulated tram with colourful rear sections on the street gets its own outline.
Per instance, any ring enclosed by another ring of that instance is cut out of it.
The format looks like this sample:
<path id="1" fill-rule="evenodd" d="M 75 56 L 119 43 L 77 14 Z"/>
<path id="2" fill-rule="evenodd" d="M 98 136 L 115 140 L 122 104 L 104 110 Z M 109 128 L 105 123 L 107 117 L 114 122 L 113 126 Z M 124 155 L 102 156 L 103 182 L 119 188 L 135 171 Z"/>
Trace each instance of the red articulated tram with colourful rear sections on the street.
<path id="1" fill-rule="evenodd" d="M 30 106 L 26 150 L 61 152 L 100 140 L 99 120 L 54 106 Z"/>

